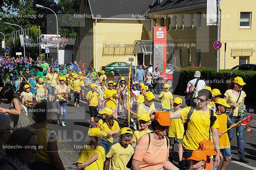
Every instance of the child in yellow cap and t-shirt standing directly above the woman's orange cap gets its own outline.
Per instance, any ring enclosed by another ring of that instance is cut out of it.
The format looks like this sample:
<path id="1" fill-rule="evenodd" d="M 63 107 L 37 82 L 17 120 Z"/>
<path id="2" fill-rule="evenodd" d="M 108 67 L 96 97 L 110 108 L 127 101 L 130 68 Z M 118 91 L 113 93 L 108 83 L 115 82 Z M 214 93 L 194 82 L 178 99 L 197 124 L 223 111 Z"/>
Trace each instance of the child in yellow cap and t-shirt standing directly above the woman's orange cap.
<path id="1" fill-rule="evenodd" d="M 164 85 L 164 91 L 159 95 L 159 99 L 161 100 L 162 110 L 165 112 L 170 112 L 170 109 L 173 109 L 173 95 L 172 92 L 169 91 L 170 85 Z M 171 107 L 172 106 L 172 107 Z"/>

